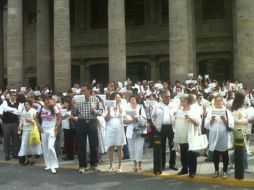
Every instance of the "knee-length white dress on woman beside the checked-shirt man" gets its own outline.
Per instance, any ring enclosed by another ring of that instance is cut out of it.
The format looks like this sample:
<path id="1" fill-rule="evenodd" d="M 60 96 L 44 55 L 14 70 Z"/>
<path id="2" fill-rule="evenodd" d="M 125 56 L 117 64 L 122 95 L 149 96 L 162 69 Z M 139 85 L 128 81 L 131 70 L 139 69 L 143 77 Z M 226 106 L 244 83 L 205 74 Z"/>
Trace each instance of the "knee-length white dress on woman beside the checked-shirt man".
<path id="1" fill-rule="evenodd" d="M 111 146 L 123 146 L 126 144 L 126 137 L 123 125 L 124 113 L 120 114 L 110 109 L 110 119 L 106 126 L 105 144 L 108 149 Z"/>

